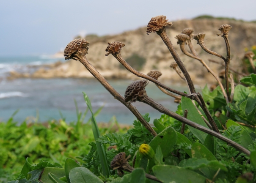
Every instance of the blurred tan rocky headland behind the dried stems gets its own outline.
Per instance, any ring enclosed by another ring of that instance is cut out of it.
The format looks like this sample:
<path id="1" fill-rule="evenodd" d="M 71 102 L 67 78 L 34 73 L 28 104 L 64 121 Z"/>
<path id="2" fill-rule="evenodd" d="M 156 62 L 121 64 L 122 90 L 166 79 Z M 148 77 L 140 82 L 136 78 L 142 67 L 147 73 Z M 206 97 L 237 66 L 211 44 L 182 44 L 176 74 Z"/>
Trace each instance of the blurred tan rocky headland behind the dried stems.
<path id="1" fill-rule="evenodd" d="M 176 21 L 173 22 L 171 27 L 166 27 L 169 38 L 195 84 L 205 85 L 206 82 L 215 83 L 215 79 L 198 60 L 187 57 L 181 52 L 179 45 L 176 44 L 177 40 L 175 36 L 180 34 L 184 28 L 192 28 L 194 34 L 206 33 L 204 40 L 206 46 L 226 57 L 224 39 L 221 36 L 216 36 L 217 33 L 220 33 L 218 28 L 223 24 L 232 26 L 228 36 L 231 45 L 232 59 L 230 67 L 240 72 L 242 70 L 241 60 L 244 57 L 245 48 L 256 45 L 256 23 L 230 19 L 192 19 Z M 121 64 L 112 55 L 105 56 L 105 49 L 108 45 L 107 42 L 121 41 L 126 44 L 121 51 L 121 55 L 125 60 L 133 59 L 131 62 L 136 62 L 137 59 L 138 62 L 140 62 L 140 66 L 138 67 L 140 72 L 147 74 L 149 71 L 157 69 L 162 72 L 160 79 L 168 79 L 171 82 L 182 82 L 182 79 L 170 68 L 171 63 L 175 61 L 162 39 L 156 33 L 147 35 L 146 26 L 114 36 L 87 36 L 86 39 L 90 42 L 90 48 L 86 57 L 99 73 L 107 79 L 136 79 L 136 76 L 123 69 Z M 210 63 L 208 59 L 216 60 L 220 63 L 223 63 L 223 60 L 204 52 L 204 50 L 196 44 L 197 41 L 192 40 L 192 42 L 198 55 L 213 71 L 219 73 L 223 70 L 223 66 Z M 63 57 L 63 53 L 57 53 L 54 56 Z M 79 61 L 68 60 L 65 63 L 57 62 L 55 64 L 41 66 L 33 73 L 11 71 L 8 78 L 15 79 L 20 77 L 49 79 L 55 77 L 91 78 L 92 76 Z"/>

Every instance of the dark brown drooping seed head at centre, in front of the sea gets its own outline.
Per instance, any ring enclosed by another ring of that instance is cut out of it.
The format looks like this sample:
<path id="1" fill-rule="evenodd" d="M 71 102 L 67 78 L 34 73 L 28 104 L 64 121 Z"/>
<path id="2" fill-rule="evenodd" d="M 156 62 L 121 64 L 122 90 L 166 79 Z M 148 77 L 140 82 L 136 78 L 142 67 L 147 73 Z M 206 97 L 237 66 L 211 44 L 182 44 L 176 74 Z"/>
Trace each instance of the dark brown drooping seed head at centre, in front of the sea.
<path id="1" fill-rule="evenodd" d="M 135 82 L 132 82 L 124 93 L 124 101 L 125 102 L 135 102 L 138 97 L 144 97 L 146 96 L 146 90 L 145 87 L 148 85 L 147 80 L 138 80 Z"/>

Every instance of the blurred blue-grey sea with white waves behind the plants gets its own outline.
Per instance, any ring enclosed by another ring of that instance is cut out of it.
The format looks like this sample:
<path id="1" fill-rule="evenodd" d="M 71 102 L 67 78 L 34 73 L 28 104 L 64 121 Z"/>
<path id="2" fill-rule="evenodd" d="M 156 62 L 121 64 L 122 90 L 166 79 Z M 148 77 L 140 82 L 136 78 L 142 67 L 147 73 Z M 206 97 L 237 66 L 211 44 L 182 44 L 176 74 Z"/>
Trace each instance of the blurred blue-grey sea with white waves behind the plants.
<path id="1" fill-rule="evenodd" d="M 75 101 L 79 111 L 85 112 L 87 106 L 82 93 L 85 92 L 91 100 L 94 112 L 102 107 L 96 116 L 98 123 L 108 123 L 114 120 L 123 124 L 133 123 L 136 118 L 132 112 L 113 98 L 96 79 L 7 79 L 9 71 L 33 72 L 42 65 L 57 61 L 65 62 L 64 58 L 54 58 L 49 55 L 0 56 L 0 121 L 8 121 L 15 112 L 17 113 L 13 118 L 18 124 L 23 121 L 43 123 L 61 118 L 65 118 L 67 122 L 77 121 Z M 132 80 L 108 80 L 108 82 L 124 96 Z M 176 90 L 187 91 L 184 85 L 173 85 L 168 81 L 165 81 L 165 85 Z M 178 104 L 173 102 L 173 98 L 162 93 L 153 83 L 149 83 L 146 91 L 149 97 L 168 109 L 176 111 Z M 142 102 L 137 101 L 133 105 L 142 115 L 149 113 L 150 123 L 161 116 L 156 109 Z M 91 114 L 88 112 L 84 122 L 90 117 Z"/>

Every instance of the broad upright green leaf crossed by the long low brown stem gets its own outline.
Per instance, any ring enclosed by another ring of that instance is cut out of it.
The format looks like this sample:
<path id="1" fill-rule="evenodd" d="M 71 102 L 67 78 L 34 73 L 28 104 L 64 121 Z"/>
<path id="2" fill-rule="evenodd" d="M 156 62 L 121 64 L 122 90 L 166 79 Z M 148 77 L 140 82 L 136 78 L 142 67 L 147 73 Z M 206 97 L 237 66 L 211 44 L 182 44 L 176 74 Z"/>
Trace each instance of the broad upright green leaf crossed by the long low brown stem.
<path id="1" fill-rule="evenodd" d="M 201 125 L 204 126 L 205 128 L 208 128 L 208 126 L 205 124 L 204 120 L 202 119 L 201 115 L 198 113 L 197 109 L 195 108 L 194 104 L 192 103 L 192 101 L 190 100 L 190 98 L 187 97 L 182 97 L 182 110 L 188 110 L 187 113 L 187 119 Z M 206 133 L 193 128 L 192 126 L 188 126 L 189 130 L 193 133 L 193 135 L 195 135 L 196 138 L 198 138 L 200 140 L 200 142 L 204 143 L 204 140 L 207 136 Z"/>

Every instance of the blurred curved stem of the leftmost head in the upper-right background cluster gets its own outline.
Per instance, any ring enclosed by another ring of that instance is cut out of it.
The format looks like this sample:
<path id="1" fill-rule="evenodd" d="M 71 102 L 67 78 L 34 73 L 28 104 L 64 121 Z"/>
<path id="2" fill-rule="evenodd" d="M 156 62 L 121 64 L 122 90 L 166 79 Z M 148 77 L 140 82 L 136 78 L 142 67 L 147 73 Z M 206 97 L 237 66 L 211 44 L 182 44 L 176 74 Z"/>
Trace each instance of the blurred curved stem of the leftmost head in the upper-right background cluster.
<path id="1" fill-rule="evenodd" d="M 209 73 L 211 73 L 212 76 L 215 77 L 215 79 L 216 79 L 216 81 L 218 82 L 218 84 L 219 84 L 219 86 L 220 86 L 220 89 L 221 89 L 221 91 L 222 91 L 222 93 L 223 93 L 223 96 L 224 96 L 224 98 L 225 98 L 225 100 L 226 100 L 226 103 L 228 104 L 229 102 L 228 102 L 228 97 L 227 97 L 226 91 L 225 91 L 225 89 L 224 89 L 224 87 L 223 87 L 223 85 L 222 85 L 222 83 L 221 83 L 221 81 L 220 81 L 220 78 L 217 76 L 217 74 L 215 74 L 215 72 L 213 72 L 212 69 L 209 68 L 209 66 L 204 62 L 203 59 L 201 59 L 200 57 L 195 56 L 195 55 L 192 55 L 192 54 L 190 54 L 189 52 L 187 52 L 187 50 L 185 49 L 185 42 L 180 42 L 179 46 L 180 46 L 180 49 L 182 50 L 182 53 L 184 53 L 185 55 L 187 55 L 187 56 L 189 56 L 189 57 L 191 57 L 191 58 L 194 58 L 194 59 L 196 59 L 196 60 L 199 60 L 199 61 L 203 64 L 203 66 L 207 69 L 207 71 L 208 71 Z M 195 54 L 196 54 L 196 53 L 195 53 Z"/>

